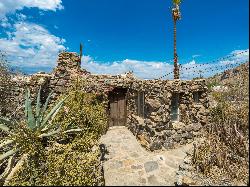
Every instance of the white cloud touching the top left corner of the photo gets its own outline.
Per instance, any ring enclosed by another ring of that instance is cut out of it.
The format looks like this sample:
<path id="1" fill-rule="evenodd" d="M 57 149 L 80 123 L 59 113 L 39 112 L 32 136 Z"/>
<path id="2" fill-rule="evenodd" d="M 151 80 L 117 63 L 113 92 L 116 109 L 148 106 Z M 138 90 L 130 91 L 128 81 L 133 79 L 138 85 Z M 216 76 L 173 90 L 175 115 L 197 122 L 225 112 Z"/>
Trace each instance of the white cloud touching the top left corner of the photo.
<path id="1" fill-rule="evenodd" d="M 40 10 L 56 11 L 63 9 L 61 0 L 0 0 L 0 20 L 16 10 L 38 8 Z"/>

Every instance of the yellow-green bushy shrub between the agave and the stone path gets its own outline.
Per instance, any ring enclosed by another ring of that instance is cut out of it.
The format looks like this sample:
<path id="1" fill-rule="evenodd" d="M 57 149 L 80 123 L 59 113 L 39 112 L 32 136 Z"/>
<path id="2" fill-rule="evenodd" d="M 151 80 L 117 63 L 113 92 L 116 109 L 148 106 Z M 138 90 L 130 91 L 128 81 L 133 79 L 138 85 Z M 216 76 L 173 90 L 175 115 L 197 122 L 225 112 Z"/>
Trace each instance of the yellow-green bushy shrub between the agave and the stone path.
<path id="1" fill-rule="evenodd" d="M 61 133 L 47 142 L 43 154 L 29 156 L 8 185 L 104 184 L 98 140 L 107 129 L 105 102 L 99 94 L 84 93 L 79 87 L 58 100 L 65 97 L 51 121 Z"/>

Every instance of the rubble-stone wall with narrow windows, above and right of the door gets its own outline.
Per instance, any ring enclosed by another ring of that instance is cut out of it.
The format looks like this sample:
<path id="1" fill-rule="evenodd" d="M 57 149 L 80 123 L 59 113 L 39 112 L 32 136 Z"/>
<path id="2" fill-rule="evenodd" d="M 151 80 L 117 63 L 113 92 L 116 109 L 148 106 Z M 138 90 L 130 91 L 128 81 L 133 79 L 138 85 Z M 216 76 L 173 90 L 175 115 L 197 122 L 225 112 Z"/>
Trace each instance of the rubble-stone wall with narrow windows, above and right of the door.
<path id="1" fill-rule="evenodd" d="M 204 79 L 193 81 L 138 80 L 131 74 L 90 75 L 87 91 L 108 94 L 116 87 L 127 88 L 127 127 L 150 150 L 172 149 L 200 137 L 207 123 L 208 98 Z M 138 93 L 144 93 L 144 115 L 138 114 Z M 193 93 L 199 93 L 196 103 Z M 179 121 L 170 118 L 172 95 L 178 93 Z"/>

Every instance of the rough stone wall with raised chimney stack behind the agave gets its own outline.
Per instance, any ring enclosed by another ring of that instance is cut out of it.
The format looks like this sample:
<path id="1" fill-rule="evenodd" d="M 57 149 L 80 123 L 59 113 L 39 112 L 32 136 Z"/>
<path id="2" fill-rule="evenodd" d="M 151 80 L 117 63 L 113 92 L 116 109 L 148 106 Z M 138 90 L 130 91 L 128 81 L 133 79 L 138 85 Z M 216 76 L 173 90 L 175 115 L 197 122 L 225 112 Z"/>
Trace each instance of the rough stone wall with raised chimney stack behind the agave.
<path id="1" fill-rule="evenodd" d="M 60 53 L 57 66 L 51 74 L 38 72 L 33 75 L 14 75 L 12 77 L 12 91 L 9 96 L 15 109 L 9 111 L 7 117 L 21 119 L 24 114 L 25 88 L 29 88 L 33 102 L 41 87 L 41 103 L 45 103 L 50 92 L 53 92 L 52 101 L 66 91 L 77 76 L 87 75 L 89 72 L 80 67 L 80 57 L 77 53 Z"/>

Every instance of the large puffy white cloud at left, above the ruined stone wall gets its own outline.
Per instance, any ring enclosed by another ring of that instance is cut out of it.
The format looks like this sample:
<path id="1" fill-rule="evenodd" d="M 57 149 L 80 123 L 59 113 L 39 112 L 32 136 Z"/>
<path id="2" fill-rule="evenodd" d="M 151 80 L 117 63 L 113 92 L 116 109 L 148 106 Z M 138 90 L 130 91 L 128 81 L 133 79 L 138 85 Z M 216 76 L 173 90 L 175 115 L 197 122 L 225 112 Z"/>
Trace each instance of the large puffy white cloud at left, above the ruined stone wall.
<path id="1" fill-rule="evenodd" d="M 0 50 L 7 53 L 15 66 L 53 67 L 58 52 L 64 50 L 64 39 L 49 33 L 44 27 L 27 22 L 13 25 L 14 31 L 0 39 Z"/>

